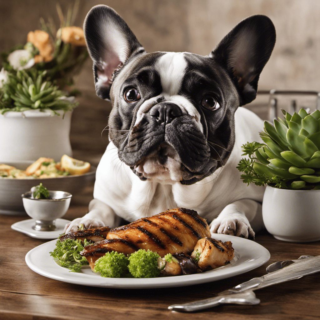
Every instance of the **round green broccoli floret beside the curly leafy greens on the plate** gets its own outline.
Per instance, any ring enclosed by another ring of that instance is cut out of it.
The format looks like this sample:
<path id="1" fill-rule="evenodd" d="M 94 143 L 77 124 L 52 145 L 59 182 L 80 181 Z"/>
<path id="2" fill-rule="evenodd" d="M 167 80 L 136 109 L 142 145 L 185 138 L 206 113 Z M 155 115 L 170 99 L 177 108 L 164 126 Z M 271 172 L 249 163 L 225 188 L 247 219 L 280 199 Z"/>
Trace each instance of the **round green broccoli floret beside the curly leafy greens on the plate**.
<path id="1" fill-rule="evenodd" d="M 128 272 L 129 260 L 123 253 L 107 252 L 95 262 L 93 271 L 108 278 L 120 278 Z"/>

